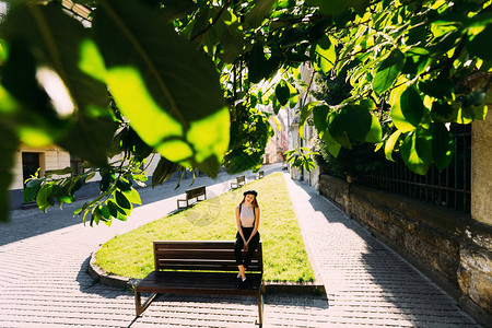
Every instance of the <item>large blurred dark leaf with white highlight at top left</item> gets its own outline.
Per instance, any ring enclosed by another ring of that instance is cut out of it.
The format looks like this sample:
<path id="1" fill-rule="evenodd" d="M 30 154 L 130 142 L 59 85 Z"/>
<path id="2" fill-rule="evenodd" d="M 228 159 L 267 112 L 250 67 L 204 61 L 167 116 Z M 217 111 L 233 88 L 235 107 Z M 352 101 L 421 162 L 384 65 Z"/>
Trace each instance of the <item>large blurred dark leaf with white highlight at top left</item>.
<path id="1" fill-rule="evenodd" d="M 104 66 L 94 65 L 97 61 L 102 62 L 102 59 L 90 40 L 89 31 L 80 22 L 63 13 L 61 7 L 55 3 L 37 5 L 24 2 L 12 5 L 3 27 L 7 39 L 11 43 L 28 45 L 28 49 L 35 56 L 38 66 L 36 78 L 49 94 L 50 103 L 58 113 L 56 119 L 49 116 L 46 116 L 46 119 L 51 119 L 54 124 L 58 120 L 58 125 L 61 125 L 60 117 L 66 118 L 72 113 L 77 114 L 78 119 L 70 120 L 68 133 L 67 129 L 63 131 L 59 128 L 58 133 L 52 133 L 50 130 L 47 132 L 54 139 L 58 139 L 57 143 L 71 153 L 95 165 L 104 166 L 106 164 L 105 145 L 110 142 L 113 133 L 108 125 L 103 124 L 105 119 L 110 120 L 106 108 L 107 89 L 101 81 L 105 70 Z M 87 59 L 89 56 L 90 59 Z M 95 78 L 83 71 L 87 67 L 93 67 L 93 72 L 97 70 Z M 5 74 L 4 79 L 4 83 L 10 85 L 9 80 L 12 80 L 12 77 Z M 17 89 L 23 87 L 25 92 L 36 94 L 33 92 L 34 89 L 26 84 L 30 83 L 28 79 L 21 79 L 22 82 L 17 83 Z M 57 85 L 56 90 L 55 85 Z M 19 92 L 15 94 L 19 95 Z M 30 98 L 37 98 L 28 104 L 33 106 L 33 112 L 49 112 L 49 109 L 42 109 L 47 106 L 46 101 L 44 101 L 45 105 L 40 104 L 42 97 L 40 94 L 30 96 Z M 25 101 L 23 102 L 26 104 Z M 50 116 L 52 117 L 52 114 Z M 85 121 L 79 121 L 83 118 Z M 90 118 L 92 121 L 87 121 Z M 94 133 L 97 131 L 99 133 Z M 103 136 L 105 138 L 102 138 Z"/>

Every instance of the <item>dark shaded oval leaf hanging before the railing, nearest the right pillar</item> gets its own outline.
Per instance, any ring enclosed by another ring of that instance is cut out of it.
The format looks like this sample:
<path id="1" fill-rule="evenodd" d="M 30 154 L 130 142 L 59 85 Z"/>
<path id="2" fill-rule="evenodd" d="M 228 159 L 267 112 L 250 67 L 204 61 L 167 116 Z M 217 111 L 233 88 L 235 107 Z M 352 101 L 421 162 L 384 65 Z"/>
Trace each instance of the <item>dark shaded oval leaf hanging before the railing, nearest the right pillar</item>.
<path id="1" fill-rule="evenodd" d="M 432 159 L 438 169 L 444 169 L 453 160 L 455 140 L 442 122 L 435 121 L 432 129 Z"/>

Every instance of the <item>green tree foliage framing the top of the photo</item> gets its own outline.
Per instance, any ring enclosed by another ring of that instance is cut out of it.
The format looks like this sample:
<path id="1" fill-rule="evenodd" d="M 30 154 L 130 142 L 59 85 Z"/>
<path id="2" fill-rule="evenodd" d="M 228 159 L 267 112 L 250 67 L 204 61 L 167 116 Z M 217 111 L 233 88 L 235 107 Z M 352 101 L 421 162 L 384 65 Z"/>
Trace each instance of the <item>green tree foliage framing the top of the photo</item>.
<path id="1" fill-rule="evenodd" d="M 301 66 L 351 85 L 338 105 L 301 108 L 335 156 L 370 142 L 424 174 L 453 155 L 448 122 L 487 114 L 490 1 L 77 2 L 91 28 L 55 0 L 12 2 L 2 23 L 2 219 L 19 143 L 57 143 L 101 174 L 102 194 L 81 211 L 93 222 L 138 203 L 132 184 L 152 151 L 163 156 L 159 181 L 183 168 L 257 169 L 272 133 L 262 108 L 297 104 Z M 34 177 L 26 194 L 42 209 L 68 202 L 82 177 Z"/>

